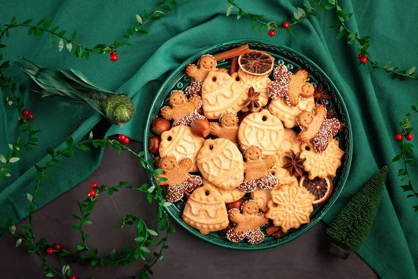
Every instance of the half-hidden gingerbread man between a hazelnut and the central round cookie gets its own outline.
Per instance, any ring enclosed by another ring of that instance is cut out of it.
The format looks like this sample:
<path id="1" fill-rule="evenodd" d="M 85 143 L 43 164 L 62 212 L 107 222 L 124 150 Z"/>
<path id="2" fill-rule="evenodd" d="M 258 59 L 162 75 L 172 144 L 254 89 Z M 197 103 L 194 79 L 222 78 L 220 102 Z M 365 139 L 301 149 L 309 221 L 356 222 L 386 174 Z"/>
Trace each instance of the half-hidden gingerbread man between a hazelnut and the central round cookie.
<path id="1" fill-rule="evenodd" d="M 210 123 L 210 133 L 238 144 L 238 117 L 232 112 L 222 114 L 218 123 Z"/>

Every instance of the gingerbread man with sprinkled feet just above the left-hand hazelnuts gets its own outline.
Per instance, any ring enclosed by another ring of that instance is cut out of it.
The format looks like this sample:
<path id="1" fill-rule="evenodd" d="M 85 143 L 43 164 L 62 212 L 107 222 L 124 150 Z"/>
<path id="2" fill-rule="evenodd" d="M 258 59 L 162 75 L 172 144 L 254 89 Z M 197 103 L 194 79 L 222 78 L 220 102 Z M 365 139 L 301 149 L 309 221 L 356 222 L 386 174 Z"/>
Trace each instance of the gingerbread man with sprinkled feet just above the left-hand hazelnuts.
<path id="1" fill-rule="evenodd" d="M 173 126 L 187 126 L 196 119 L 204 119 L 197 112 L 202 106 L 202 100 L 199 96 L 193 96 L 187 100 L 183 91 L 173 91 L 169 99 L 171 107 L 163 107 L 161 115 L 165 119 L 173 119 Z"/>

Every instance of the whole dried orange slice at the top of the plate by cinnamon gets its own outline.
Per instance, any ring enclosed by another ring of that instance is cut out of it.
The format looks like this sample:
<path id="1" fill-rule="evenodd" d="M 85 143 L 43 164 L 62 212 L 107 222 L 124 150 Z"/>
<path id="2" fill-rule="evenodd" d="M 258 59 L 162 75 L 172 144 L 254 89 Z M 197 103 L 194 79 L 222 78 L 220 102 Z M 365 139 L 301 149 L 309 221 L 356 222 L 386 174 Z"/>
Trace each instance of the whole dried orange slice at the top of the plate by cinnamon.
<path id="1" fill-rule="evenodd" d="M 269 75 L 274 68 L 274 57 L 266 52 L 251 50 L 238 57 L 238 65 L 251 75 Z"/>

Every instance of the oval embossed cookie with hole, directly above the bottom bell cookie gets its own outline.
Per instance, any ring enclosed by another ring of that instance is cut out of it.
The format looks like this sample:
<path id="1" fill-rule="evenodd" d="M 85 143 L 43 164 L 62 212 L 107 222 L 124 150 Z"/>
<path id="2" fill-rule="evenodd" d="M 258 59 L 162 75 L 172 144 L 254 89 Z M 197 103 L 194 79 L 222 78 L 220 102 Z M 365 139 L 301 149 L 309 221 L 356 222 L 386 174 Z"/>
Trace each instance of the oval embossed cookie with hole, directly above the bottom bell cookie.
<path id="1" fill-rule="evenodd" d="M 197 155 L 203 178 L 224 190 L 233 190 L 244 181 L 244 161 L 230 140 L 206 140 Z"/>

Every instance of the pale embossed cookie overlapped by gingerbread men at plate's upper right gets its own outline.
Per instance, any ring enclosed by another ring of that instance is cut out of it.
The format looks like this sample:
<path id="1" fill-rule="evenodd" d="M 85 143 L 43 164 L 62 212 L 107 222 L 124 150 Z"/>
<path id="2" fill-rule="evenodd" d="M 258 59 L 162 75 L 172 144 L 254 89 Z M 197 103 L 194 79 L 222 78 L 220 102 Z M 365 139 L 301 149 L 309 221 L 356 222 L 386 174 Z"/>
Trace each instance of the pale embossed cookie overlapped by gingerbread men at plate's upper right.
<path id="1" fill-rule="evenodd" d="M 288 105 L 285 97 L 280 97 L 270 102 L 268 110 L 279 117 L 286 128 L 293 128 L 297 126 L 297 116 L 303 110 L 312 112 L 315 107 L 315 100 L 311 98 L 301 98 L 299 104 L 296 107 Z"/>

